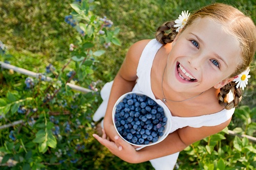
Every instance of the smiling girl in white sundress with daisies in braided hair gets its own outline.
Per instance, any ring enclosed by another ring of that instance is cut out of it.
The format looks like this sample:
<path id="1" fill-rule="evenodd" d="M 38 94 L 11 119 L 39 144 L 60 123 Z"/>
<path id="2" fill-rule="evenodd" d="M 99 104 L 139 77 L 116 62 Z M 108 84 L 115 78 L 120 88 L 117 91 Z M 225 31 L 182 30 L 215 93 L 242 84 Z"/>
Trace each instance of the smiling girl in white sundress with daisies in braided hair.
<path id="1" fill-rule="evenodd" d="M 113 154 L 130 163 L 150 160 L 161 170 L 172 169 L 179 152 L 191 143 L 228 126 L 241 99 L 240 87 L 244 88 L 233 80 L 247 70 L 256 48 L 254 23 L 228 5 L 196 11 L 178 34 L 175 26 L 179 23 L 166 22 L 156 39 L 131 46 L 114 82 L 103 87 L 104 102 L 94 117 L 105 112 L 103 135 L 93 136 Z M 143 92 L 168 108 L 172 130 L 162 142 L 136 150 L 118 136 L 112 109 L 129 91 Z"/>

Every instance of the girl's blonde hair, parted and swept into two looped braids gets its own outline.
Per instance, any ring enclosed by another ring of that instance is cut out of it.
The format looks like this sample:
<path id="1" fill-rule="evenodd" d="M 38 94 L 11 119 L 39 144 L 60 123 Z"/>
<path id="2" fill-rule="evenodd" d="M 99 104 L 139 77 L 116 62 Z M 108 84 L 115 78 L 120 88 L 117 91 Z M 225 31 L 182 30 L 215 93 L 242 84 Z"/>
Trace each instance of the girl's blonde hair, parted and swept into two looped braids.
<path id="1" fill-rule="evenodd" d="M 190 15 L 181 33 L 198 18 L 205 17 L 221 23 L 223 29 L 239 41 L 243 62 L 237 66 L 236 71 L 229 78 L 239 75 L 249 67 L 256 51 L 256 28 L 253 21 L 234 7 L 216 3 L 203 7 Z M 156 39 L 162 44 L 173 42 L 177 35 L 176 28 L 173 27 L 174 25 L 174 21 L 165 22 L 157 29 Z M 165 33 L 167 30 L 170 30 L 170 32 Z M 226 96 L 230 90 L 233 93 L 234 100 L 228 103 Z M 242 90 L 236 88 L 234 82 L 230 82 L 220 89 L 218 94 L 219 104 L 225 106 L 226 109 L 236 107 L 240 102 L 241 95 Z"/>

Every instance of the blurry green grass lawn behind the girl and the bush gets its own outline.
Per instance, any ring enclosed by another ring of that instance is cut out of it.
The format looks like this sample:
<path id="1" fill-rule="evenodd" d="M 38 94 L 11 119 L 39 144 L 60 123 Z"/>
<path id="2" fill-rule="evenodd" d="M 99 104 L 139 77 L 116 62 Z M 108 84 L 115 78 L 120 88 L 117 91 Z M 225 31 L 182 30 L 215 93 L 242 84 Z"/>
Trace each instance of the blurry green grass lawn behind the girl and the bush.
<path id="1" fill-rule="evenodd" d="M 44 72 L 49 63 L 61 67 L 71 56 L 69 44 L 75 41 L 75 30 L 64 22 L 64 17 L 71 11 L 73 1 L 50 0 L 2 0 L 0 2 L 0 40 L 9 47 L 14 56 L 11 64 L 35 72 Z M 100 0 L 95 8 L 99 16 L 107 16 L 120 28 L 121 46 L 112 46 L 96 64 L 95 78 L 104 82 L 114 79 L 128 48 L 138 40 L 154 38 L 155 30 L 163 22 L 178 17 L 182 10 L 194 11 L 211 2 L 224 2 L 236 6 L 252 16 L 256 21 L 256 4 L 253 0 L 245 1 L 179 1 L 179 0 Z M 256 63 L 251 71 L 249 87 L 246 91 L 245 104 L 256 104 Z M 4 70 L 8 75 L 8 71 Z M 15 74 L 11 77 L 18 86 L 25 76 Z M 6 79 L 11 79 L 9 76 Z M 0 79 L 3 80 L 3 79 Z M 7 91 L 10 84 L 0 83 L 0 92 Z M 1 96 L 1 94 L 0 94 Z M 92 142 L 92 148 L 99 152 L 91 153 L 93 162 L 88 162 L 94 169 L 152 169 L 149 162 L 129 164 L 110 154 L 105 148 Z M 94 154 L 94 155 L 93 155 Z M 90 168 L 92 169 L 92 167 Z"/>

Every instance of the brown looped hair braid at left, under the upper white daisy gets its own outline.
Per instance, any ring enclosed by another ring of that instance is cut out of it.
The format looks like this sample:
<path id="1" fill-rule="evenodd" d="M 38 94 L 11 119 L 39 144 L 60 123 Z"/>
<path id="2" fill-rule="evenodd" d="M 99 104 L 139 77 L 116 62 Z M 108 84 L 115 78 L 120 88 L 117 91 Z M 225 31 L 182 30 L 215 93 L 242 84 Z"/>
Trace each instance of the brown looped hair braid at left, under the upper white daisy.
<path id="1" fill-rule="evenodd" d="M 165 22 L 162 26 L 158 27 L 157 32 L 156 32 L 156 39 L 159 41 L 161 44 L 167 44 L 170 42 L 173 42 L 175 39 L 177 32 L 174 27 L 175 22 L 174 21 L 168 21 Z M 170 32 L 167 34 L 165 31 L 170 30 Z"/>

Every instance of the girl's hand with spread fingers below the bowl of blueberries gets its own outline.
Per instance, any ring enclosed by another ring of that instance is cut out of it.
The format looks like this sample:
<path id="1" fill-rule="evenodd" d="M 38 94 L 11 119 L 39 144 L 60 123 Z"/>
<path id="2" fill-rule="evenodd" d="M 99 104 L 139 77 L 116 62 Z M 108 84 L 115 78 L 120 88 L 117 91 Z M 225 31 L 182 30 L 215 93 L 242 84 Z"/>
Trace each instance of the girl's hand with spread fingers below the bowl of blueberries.
<path id="1" fill-rule="evenodd" d="M 135 161 L 138 161 L 136 158 L 138 153 L 130 143 L 127 143 L 118 135 L 114 137 L 113 141 L 110 141 L 103 129 L 102 132 L 102 137 L 96 134 L 93 134 L 93 137 L 95 137 L 102 145 L 108 148 L 112 154 L 118 156 L 126 162 L 136 163 Z"/>

